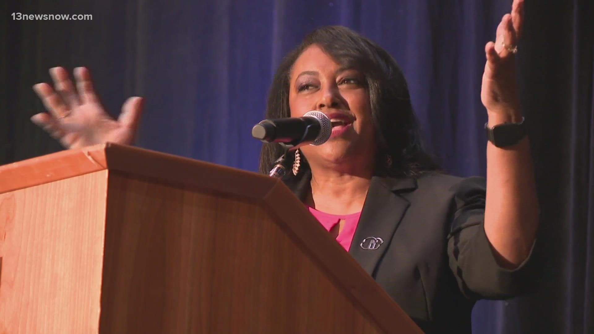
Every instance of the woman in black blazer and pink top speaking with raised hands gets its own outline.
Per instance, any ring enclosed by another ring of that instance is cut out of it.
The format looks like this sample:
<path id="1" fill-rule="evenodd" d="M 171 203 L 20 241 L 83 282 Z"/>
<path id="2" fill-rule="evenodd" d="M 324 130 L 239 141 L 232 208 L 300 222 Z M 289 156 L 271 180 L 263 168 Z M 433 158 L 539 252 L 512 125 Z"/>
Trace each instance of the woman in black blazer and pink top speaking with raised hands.
<path id="1" fill-rule="evenodd" d="M 486 188 L 481 178 L 434 171 L 419 144 L 402 73 L 386 51 L 353 31 L 314 31 L 274 77 L 268 118 L 315 109 L 337 124 L 326 143 L 291 156 L 287 185 L 426 332 L 470 332 L 476 300 L 522 289 L 538 227 L 514 72 L 522 20 L 523 1 L 515 0 L 485 48 L 481 99 L 488 128 L 508 124 L 487 143 Z M 78 96 L 64 69 L 50 73 L 61 94 L 48 84 L 34 86 L 49 110 L 33 116 L 36 124 L 66 147 L 132 143 L 140 97 L 113 120 L 85 68 L 75 69 Z M 261 170 L 282 153 L 264 146 Z"/>

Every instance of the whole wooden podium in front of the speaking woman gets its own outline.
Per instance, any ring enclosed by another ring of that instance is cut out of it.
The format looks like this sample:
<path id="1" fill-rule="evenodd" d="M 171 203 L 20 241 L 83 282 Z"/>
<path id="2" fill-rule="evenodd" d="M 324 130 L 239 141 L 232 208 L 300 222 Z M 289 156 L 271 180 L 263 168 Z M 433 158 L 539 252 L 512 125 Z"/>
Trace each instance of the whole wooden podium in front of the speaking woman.
<path id="1" fill-rule="evenodd" d="M 0 167 L 0 333 L 421 333 L 279 180 L 103 144 Z"/>

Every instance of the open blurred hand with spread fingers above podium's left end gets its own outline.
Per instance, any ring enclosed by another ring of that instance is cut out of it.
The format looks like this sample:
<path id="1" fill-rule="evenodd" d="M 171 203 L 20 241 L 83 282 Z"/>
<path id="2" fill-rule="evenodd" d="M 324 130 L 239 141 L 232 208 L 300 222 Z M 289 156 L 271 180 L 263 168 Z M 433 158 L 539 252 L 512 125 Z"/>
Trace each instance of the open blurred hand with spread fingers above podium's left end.
<path id="1" fill-rule="evenodd" d="M 48 112 L 31 116 L 31 121 L 69 149 L 108 141 L 128 145 L 134 142 L 143 109 L 142 97 L 129 97 L 118 119 L 113 119 L 99 102 L 87 68 L 74 69 L 77 89 L 64 68 L 50 68 L 49 73 L 55 90 L 46 83 L 33 86 Z"/>

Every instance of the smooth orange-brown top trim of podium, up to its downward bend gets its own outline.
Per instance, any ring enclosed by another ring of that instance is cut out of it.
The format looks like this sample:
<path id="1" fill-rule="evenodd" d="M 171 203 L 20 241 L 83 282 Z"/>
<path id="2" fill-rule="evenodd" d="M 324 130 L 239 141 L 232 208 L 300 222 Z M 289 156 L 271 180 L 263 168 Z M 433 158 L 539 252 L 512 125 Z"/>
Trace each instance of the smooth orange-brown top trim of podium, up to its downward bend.
<path id="1" fill-rule="evenodd" d="M 0 166 L 0 194 L 102 171 L 263 197 L 278 179 L 215 163 L 114 143 L 63 150 Z M 249 187 L 252 187 L 251 189 Z M 254 188 L 255 187 L 255 188 Z M 244 191 L 242 191 L 244 188 Z"/>

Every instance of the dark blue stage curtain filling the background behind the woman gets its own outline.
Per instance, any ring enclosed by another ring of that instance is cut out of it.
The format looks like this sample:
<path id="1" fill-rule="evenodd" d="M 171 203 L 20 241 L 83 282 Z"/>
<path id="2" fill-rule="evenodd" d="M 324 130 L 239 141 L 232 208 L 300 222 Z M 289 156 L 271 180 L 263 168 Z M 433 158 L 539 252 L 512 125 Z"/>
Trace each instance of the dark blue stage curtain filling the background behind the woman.
<path id="1" fill-rule="evenodd" d="M 475 333 L 594 332 L 592 0 L 526 1 L 519 45 L 523 106 L 542 207 L 538 291 L 481 301 Z M 114 116 L 146 97 L 137 145 L 255 171 L 280 58 L 305 33 L 351 27 L 402 66 L 426 146 L 451 174 L 485 175 L 484 46 L 508 0 L 81 1 L 0 4 L 0 164 L 60 150 L 29 117 L 48 68 L 90 68 Z M 18 21 L 92 14 L 91 21 Z"/>

